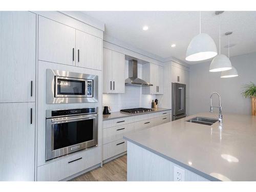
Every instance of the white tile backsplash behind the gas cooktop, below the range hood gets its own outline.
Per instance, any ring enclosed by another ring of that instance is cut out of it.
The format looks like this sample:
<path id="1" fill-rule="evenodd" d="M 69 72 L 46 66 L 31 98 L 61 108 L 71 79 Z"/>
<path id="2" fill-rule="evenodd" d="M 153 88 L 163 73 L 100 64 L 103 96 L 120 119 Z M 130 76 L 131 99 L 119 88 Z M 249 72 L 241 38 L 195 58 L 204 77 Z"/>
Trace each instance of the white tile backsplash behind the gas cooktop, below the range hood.
<path id="1" fill-rule="evenodd" d="M 156 95 L 142 94 L 141 87 L 125 86 L 124 94 L 103 94 L 103 106 L 110 106 L 111 112 L 129 108 L 151 108 L 152 100 Z"/>

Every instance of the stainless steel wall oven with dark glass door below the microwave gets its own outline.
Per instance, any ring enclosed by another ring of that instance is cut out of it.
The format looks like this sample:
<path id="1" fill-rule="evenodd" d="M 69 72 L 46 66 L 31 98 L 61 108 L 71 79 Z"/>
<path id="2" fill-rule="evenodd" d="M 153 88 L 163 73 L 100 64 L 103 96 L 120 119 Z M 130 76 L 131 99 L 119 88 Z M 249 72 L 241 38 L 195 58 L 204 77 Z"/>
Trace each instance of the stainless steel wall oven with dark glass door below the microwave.
<path id="1" fill-rule="evenodd" d="M 97 107 L 46 111 L 46 161 L 97 145 Z"/>

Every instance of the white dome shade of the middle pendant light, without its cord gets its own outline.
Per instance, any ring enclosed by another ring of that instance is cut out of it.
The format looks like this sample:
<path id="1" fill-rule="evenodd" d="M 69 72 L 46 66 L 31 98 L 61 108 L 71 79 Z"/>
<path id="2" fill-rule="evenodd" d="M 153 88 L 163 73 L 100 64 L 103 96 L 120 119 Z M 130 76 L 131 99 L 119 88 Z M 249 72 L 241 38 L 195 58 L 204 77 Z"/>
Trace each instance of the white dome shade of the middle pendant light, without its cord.
<path id="1" fill-rule="evenodd" d="M 226 55 L 218 55 L 212 59 L 209 72 L 227 71 L 232 69 L 230 60 Z"/>

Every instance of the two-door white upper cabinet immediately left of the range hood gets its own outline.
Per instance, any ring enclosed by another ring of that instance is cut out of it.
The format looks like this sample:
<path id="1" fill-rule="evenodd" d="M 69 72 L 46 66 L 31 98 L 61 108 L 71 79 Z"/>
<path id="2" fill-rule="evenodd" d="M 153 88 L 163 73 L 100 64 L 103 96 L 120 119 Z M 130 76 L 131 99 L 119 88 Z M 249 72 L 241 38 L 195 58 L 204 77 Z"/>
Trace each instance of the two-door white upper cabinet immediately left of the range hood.
<path id="1" fill-rule="evenodd" d="M 103 93 L 124 93 L 125 56 L 103 48 Z"/>

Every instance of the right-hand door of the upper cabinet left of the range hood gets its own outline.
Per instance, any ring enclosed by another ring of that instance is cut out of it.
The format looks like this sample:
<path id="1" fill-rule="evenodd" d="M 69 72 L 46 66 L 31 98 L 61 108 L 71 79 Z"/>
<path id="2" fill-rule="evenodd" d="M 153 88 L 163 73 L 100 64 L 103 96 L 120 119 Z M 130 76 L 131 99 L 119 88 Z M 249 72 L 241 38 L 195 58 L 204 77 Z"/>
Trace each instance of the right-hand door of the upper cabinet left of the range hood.
<path id="1" fill-rule="evenodd" d="M 112 93 L 124 93 L 125 89 L 125 58 L 124 54 L 112 51 Z"/>

